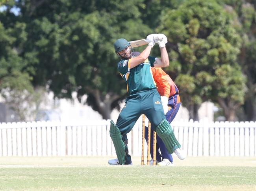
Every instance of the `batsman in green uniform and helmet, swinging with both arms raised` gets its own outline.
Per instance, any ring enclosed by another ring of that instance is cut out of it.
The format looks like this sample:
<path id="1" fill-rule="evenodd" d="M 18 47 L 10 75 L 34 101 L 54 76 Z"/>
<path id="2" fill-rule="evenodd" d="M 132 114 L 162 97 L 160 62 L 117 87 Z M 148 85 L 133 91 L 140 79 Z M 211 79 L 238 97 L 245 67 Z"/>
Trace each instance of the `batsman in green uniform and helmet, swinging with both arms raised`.
<path id="1" fill-rule="evenodd" d="M 159 44 L 161 58 L 149 56 L 155 40 Z M 163 140 L 167 151 L 170 154 L 175 153 L 181 160 L 186 158 L 169 122 L 165 119 L 161 98 L 150 71 L 151 67 L 167 67 L 169 65 L 169 57 L 165 48 L 167 38 L 163 34 L 152 34 L 147 36 L 147 41 L 149 42 L 148 46 L 136 57 L 132 56 L 132 47 L 124 38 L 120 38 L 114 43 L 115 52 L 121 58 L 117 69 L 127 83 L 129 96 L 125 100 L 126 105 L 119 114 L 117 124 L 111 120 L 109 132 L 115 146 L 117 159 L 109 160 L 109 164 L 132 164 L 128 154 L 127 138 L 122 135 L 131 131 L 143 113 L 150 120 L 153 131 L 156 131 Z"/>

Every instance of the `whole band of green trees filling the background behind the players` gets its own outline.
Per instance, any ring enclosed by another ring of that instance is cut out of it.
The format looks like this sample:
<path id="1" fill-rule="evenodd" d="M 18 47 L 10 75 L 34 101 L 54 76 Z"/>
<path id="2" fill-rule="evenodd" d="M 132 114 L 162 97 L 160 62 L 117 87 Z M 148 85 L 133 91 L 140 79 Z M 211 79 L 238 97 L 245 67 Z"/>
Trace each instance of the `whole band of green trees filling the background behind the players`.
<path id="1" fill-rule="evenodd" d="M 253 1 L 2 0 L 1 5 L 6 9 L 0 12 L 0 91 L 9 102 L 38 87 L 58 98 L 76 91 L 108 119 L 127 95 L 113 43 L 163 33 L 170 59 L 164 70 L 178 85 L 190 118 L 198 119 L 207 100 L 223 108 L 227 120 L 235 120 L 240 106 L 254 117 L 248 110 L 256 104 Z M 152 54 L 159 55 L 158 49 Z"/>

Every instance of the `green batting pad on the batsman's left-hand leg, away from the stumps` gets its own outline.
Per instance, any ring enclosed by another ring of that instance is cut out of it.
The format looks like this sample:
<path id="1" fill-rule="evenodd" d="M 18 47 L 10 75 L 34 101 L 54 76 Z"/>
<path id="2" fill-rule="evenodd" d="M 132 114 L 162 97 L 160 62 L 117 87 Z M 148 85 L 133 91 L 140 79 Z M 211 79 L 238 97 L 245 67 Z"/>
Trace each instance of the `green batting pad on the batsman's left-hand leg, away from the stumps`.
<path id="1" fill-rule="evenodd" d="M 114 124 L 111 120 L 110 129 L 109 129 L 110 137 L 113 141 L 115 147 L 115 153 L 117 154 L 117 158 L 120 164 L 124 164 L 124 142 L 122 140 L 122 135 L 119 128 Z"/>

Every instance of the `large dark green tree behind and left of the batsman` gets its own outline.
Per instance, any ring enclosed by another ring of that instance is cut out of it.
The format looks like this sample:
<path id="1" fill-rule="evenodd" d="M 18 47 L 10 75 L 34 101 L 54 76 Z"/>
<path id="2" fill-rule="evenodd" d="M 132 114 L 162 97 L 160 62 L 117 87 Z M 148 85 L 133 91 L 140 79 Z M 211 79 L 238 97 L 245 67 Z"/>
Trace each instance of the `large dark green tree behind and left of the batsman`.
<path id="1" fill-rule="evenodd" d="M 59 98 L 71 98 L 72 91 L 78 98 L 87 94 L 87 104 L 109 119 L 126 96 L 113 43 L 145 38 L 151 31 L 140 19 L 143 1 L 25 0 L 16 5 L 29 36 L 19 55 L 32 68 L 33 86 L 48 85 Z"/>

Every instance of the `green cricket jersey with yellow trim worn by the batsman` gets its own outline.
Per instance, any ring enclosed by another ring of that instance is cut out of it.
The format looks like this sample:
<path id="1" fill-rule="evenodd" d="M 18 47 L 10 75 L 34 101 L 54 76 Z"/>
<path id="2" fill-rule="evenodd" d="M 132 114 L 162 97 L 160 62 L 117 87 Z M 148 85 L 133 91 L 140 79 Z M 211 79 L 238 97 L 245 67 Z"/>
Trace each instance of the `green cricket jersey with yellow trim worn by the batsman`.
<path id="1" fill-rule="evenodd" d="M 130 69 L 130 59 L 118 62 L 117 69 L 127 83 L 129 94 L 156 88 L 150 69 L 150 66 L 154 67 L 155 60 L 156 57 L 148 56 L 144 62 L 132 69 Z"/>

